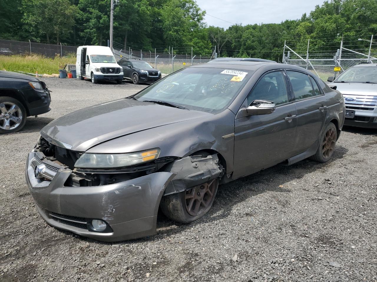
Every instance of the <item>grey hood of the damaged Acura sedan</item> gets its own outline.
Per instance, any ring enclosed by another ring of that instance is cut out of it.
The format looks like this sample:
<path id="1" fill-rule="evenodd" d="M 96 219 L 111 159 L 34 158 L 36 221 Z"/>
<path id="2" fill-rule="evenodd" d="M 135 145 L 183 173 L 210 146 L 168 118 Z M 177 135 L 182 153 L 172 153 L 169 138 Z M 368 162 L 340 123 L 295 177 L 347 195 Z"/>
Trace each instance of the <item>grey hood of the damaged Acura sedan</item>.
<path id="1" fill-rule="evenodd" d="M 212 114 L 121 99 L 57 118 L 43 127 L 41 135 L 58 146 L 85 152 L 110 139 L 206 115 Z"/>

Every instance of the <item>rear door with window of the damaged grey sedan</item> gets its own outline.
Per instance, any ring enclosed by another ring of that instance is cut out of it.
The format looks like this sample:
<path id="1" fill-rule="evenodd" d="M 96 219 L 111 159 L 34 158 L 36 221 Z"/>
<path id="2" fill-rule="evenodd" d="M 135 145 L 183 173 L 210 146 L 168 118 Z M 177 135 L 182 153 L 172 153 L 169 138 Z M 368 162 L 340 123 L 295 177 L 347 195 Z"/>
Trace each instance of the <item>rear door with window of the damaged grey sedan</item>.
<path id="1" fill-rule="evenodd" d="M 314 78 L 306 73 L 287 70 L 297 108 L 295 155 L 305 152 L 320 138 L 327 115 L 327 99 Z"/>

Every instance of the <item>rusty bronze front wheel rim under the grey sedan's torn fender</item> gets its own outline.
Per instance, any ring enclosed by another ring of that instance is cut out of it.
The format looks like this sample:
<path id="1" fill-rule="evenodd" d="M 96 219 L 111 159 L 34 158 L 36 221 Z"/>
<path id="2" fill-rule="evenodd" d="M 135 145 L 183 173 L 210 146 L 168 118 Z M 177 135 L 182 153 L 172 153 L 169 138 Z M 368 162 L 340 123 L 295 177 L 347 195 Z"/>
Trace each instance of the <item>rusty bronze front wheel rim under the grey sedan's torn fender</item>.
<path id="1" fill-rule="evenodd" d="M 215 189 L 216 179 L 213 179 L 187 190 L 185 195 L 187 213 L 195 217 L 204 212 L 211 203 Z"/>

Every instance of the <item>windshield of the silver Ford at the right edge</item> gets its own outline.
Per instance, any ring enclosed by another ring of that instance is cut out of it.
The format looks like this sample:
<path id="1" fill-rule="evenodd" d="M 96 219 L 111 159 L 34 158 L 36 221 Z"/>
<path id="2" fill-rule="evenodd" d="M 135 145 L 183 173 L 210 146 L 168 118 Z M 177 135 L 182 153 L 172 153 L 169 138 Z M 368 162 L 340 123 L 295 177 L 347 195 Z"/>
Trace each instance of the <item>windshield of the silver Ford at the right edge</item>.
<path id="1" fill-rule="evenodd" d="M 377 67 L 352 67 L 342 73 L 334 82 L 377 83 Z"/>

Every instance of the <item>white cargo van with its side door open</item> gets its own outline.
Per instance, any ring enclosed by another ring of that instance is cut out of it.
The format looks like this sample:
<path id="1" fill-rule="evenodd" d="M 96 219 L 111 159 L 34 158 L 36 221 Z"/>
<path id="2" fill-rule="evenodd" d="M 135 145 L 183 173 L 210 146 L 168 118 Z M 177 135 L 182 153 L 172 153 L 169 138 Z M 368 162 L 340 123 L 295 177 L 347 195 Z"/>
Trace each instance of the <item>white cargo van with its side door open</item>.
<path id="1" fill-rule="evenodd" d="M 99 80 L 122 83 L 123 68 L 116 63 L 109 47 L 79 46 L 76 58 L 76 72 L 81 80 L 89 78 L 92 83 Z"/>

